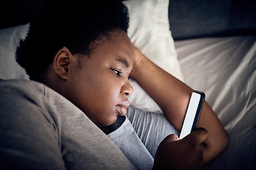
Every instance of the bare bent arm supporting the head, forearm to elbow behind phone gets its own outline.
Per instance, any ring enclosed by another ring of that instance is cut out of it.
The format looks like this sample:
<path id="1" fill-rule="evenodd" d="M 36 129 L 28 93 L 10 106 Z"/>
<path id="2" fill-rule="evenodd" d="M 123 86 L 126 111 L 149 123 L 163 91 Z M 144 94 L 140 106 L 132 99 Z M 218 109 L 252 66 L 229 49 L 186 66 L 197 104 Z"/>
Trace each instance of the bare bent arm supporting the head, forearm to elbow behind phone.
<path id="1" fill-rule="evenodd" d="M 134 69 L 130 77 L 159 104 L 166 118 L 181 130 L 189 98 L 193 92 L 186 84 L 165 72 L 134 47 Z M 228 145 L 229 137 L 213 110 L 204 103 L 198 127 L 208 131 L 203 142 L 204 163 L 216 157 Z"/>

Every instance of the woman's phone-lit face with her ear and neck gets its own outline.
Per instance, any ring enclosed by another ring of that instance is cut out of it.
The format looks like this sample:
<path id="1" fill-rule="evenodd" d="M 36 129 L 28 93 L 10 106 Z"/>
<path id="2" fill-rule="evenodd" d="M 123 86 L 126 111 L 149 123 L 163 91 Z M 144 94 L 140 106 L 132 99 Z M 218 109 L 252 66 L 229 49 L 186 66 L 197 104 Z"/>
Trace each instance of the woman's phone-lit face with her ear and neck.
<path id="1" fill-rule="evenodd" d="M 117 115 L 126 113 L 127 96 L 133 91 L 128 80 L 133 67 L 132 43 L 122 31 L 111 37 L 112 43 L 101 42 L 90 59 L 82 61 L 82 68 L 78 67 L 80 56 L 63 47 L 55 55 L 48 78 L 48 86 L 78 106 L 98 127 L 111 125 Z"/>

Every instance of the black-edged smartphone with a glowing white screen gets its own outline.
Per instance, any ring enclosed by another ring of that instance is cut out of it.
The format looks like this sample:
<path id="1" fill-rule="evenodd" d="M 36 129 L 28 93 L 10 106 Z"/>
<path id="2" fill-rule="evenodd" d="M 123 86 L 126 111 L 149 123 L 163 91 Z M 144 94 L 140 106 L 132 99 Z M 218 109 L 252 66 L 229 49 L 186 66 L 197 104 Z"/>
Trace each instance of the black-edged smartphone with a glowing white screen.
<path id="1" fill-rule="evenodd" d="M 206 95 L 201 91 L 193 91 L 191 94 L 185 119 L 181 128 L 181 135 L 179 136 L 180 140 L 196 129 L 205 98 Z"/>

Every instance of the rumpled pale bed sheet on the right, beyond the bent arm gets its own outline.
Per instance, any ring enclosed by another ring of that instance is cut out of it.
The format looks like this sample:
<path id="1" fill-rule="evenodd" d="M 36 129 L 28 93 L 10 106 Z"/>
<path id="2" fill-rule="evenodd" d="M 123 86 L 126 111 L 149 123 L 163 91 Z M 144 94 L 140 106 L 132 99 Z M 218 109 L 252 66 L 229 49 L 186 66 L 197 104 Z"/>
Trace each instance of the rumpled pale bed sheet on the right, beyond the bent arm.
<path id="1" fill-rule="evenodd" d="M 256 169 L 256 36 L 175 42 L 186 84 L 206 101 L 230 144 L 204 169 Z"/>

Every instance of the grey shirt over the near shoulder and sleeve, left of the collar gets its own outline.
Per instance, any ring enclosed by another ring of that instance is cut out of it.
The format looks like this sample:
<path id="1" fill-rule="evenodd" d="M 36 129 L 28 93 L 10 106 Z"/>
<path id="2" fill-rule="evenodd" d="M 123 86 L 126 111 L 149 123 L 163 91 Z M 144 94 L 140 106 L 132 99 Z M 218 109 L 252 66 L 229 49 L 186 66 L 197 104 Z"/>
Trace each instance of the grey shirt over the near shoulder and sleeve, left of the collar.
<path id="1" fill-rule="evenodd" d="M 73 103 L 35 81 L 0 81 L 0 169 L 134 169 Z"/>

